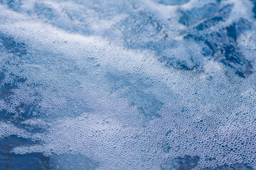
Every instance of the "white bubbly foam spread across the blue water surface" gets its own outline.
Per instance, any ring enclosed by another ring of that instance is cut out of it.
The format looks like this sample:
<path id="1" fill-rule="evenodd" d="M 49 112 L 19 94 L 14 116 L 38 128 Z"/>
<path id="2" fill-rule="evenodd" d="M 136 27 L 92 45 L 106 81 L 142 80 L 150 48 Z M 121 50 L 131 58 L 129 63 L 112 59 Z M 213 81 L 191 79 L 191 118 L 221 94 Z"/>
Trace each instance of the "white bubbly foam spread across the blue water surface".
<path id="1" fill-rule="evenodd" d="M 112 3 L 103 4 L 110 7 Z M 31 134 L 11 123 L 1 123 L 1 137 L 18 135 L 39 141 L 37 145 L 15 147 L 16 154 L 80 154 L 98 162 L 98 169 L 160 169 L 167 160 L 185 154 L 200 157 L 198 169 L 237 162 L 255 168 L 255 74 L 246 79 L 238 77 L 233 69 L 205 57 L 201 43 L 178 35 L 184 26 L 178 23 L 176 11 L 190 10 L 199 3 L 163 6 L 156 1 L 119 2 L 113 10 L 105 11 L 97 1 L 24 1 L 20 11 L 1 5 L 0 32 L 23 42 L 27 54 L 18 57 L 1 49 L 0 67 L 7 70 L 1 83 L 16 84 L 16 88 L 11 89 L 9 101 L 0 100 L 0 109 L 22 117 L 25 111 L 17 111 L 17 106 L 34 105 L 37 110 L 31 115 L 36 118 L 21 124 L 46 131 Z M 233 3 L 237 5 L 234 16 L 227 22 L 247 13 L 238 10 L 246 3 Z M 49 16 L 42 14 L 45 11 L 38 11 L 41 14 L 37 16 L 36 4 L 50 8 Z M 134 5 L 133 11 L 118 8 L 126 4 L 129 10 Z M 87 11 L 82 13 L 83 9 Z M 139 16 L 140 11 L 146 17 L 154 16 L 166 29 L 170 44 L 163 44 L 166 48 L 162 54 L 185 60 L 191 67 L 196 61 L 200 68 L 188 71 L 166 67 L 154 49 L 124 45 L 122 31 L 129 26 L 122 23 Z M 173 29 L 168 32 L 167 28 Z M 90 33 L 82 29 L 96 30 Z M 105 35 L 111 30 L 118 31 Z M 241 47 L 247 47 L 245 55 L 255 47 L 254 39 L 248 37 L 252 33 L 248 31 L 239 39 Z M 26 81 L 17 82 L 13 74 Z M 112 84 L 109 74 L 118 77 Z M 146 87 L 140 87 L 142 84 Z M 155 111 L 161 117 L 150 121 L 142 113 L 142 108 L 151 104 L 146 98 L 149 95 L 163 103 Z M 164 145 L 169 146 L 169 152 Z M 210 162 L 208 157 L 214 160 Z"/>

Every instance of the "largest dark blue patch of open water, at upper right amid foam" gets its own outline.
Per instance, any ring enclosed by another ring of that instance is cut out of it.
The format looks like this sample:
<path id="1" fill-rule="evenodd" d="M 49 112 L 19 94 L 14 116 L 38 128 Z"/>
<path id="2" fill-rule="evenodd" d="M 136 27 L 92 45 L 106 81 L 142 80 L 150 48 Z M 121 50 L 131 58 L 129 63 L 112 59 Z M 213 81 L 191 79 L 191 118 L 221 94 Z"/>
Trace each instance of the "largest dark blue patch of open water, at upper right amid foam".
<path id="1" fill-rule="evenodd" d="M 206 12 L 198 14 L 198 12 L 205 10 Z M 235 74 L 238 74 L 239 77 L 245 78 L 252 73 L 252 64 L 250 64 L 250 61 L 245 60 L 241 52 L 239 52 L 237 38 L 241 33 L 250 29 L 251 23 L 240 18 L 238 22 L 221 28 L 218 32 L 207 31 L 204 33 L 205 30 L 215 26 L 220 21 L 228 19 L 231 10 L 232 5 L 220 8 L 218 4 L 206 4 L 202 8 L 181 11 L 180 22 L 189 28 L 184 32 L 186 40 L 196 40 L 205 43 L 206 48 L 203 51 L 206 56 L 210 55 L 214 60 L 223 62 L 226 66 L 235 69 Z M 195 24 L 198 21 L 203 22 Z"/>

